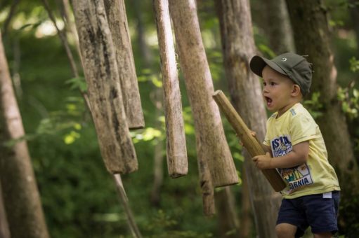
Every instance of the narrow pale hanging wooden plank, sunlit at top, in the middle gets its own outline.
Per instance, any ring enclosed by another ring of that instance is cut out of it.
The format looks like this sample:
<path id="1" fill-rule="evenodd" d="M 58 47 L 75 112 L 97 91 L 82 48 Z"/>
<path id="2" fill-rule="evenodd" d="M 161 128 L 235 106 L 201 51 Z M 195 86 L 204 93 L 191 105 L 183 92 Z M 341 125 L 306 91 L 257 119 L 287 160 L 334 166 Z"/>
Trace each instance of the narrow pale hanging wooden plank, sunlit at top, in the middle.
<path id="1" fill-rule="evenodd" d="M 164 110 L 167 134 L 167 167 L 172 178 L 188 172 L 185 130 L 183 127 L 181 92 L 178 83 L 174 39 L 168 0 L 153 0 L 164 89 Z"/>

